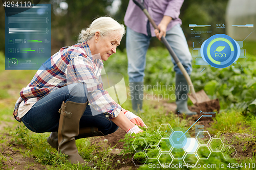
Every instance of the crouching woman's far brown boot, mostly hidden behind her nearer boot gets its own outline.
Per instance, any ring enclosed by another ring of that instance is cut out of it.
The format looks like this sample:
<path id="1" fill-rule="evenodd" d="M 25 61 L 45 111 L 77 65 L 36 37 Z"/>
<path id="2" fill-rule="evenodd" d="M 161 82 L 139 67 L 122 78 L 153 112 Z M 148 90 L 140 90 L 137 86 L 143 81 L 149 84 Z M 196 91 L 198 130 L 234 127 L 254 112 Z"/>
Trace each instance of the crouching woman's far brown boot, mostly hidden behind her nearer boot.
<path id="1" fill-rule="evenodd" d="M 75 139 L 88 138 L 93 136 L 105 136 L 102 132 L 98 131 L 96 127 L 87 127 L 79 129 L 79 135 Z M 52 148 L 58 150 L 58 132 L 52 132 L 47 138 L 47 142 Z"/>

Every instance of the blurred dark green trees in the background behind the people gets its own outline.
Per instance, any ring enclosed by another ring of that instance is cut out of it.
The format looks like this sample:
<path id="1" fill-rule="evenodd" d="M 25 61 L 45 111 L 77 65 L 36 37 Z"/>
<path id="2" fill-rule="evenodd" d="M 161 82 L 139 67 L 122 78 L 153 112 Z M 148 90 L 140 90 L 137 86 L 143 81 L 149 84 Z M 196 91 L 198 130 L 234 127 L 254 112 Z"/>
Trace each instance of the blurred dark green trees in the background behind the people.
<path id="1" fill-rule="evenodd" d="M 40 4 L 52 4 L 52 54 L 56 53 L 62 46 L 73 45 L 77 41 L 77 36 L 81 29 L 87 28 L 93 18 L 110 15 L 120 23 L 123 23 L 126 8 L 129 1 L 119 1 L 120 8 L 116 13 L 112 13 L 112 3 L 115 0 L 41 0 Z M 23 1 L 25 2 L 25 1 Z M 59 4 L 66 2 L 68 9 L 63 10 Z M 228 0 L 186 0 L 181 8 L 180 18 L 182 19 L 182 28 L 188 40 L 189 23 L 214 25 L 216 22 L 224 22 L 225 9 Z M 0 3 L 1 4 L 1 3 Z M 59 12 L 57 12 L 59 11 Z M 5 51 L 5 11 L 0 7 L 0 51 Z M 222 30 L 220 33 L 224 33 Z M 153 39 L 151 46 L 163 46 L 157 39 Z M 122 39 L 120 50 L 125 48 L 125 37 Z"/>

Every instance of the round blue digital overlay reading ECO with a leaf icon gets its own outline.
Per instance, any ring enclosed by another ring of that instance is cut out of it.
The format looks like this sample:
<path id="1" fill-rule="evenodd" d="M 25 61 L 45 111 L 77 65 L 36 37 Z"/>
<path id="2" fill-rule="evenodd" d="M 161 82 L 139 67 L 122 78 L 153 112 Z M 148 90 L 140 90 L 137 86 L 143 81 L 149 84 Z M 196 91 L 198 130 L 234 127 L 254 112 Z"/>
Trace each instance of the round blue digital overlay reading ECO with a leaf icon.
<path id="1" fill-rule="evenodd" d="M 247 36 L 240 36 L 240 39 L 233 39 L 234 42 L 232 43 L 235 48 L 238 47 L 238 51 L 236 52 L 236 49 L 234 50 L 236 55 L 232 58 L 232 63 L 227 62 L 227 58 L 229 56 L 226 56 L 227 53 L 230 53 L 230 56 L 232 56 L 232 47 L 230 49 L 228 43 L 225 41 L 219 41 L 216 42 L 215 44 L 215 49 L 211 49 L 211 55 L 207 56 L 207 46 L 203 45 L 205 44 L 205 41 L 208 40 L 210 37 L 214 37 L 215 35 L 219 35 L 220 38 L 221 34 L 218 34 L 221 32 L 220 30 L 225 30 L 226 25 L 224 23 L 216 23 L 216 25 L 197 25 L 197 24 L 189 24 L 189 29 L 190 29 L 190 36 L 193 39 L 193 52 L 192 56 L 196 58 L 196 65 L 210 65 L 211 67 L 216 67 L 216 68 L 225 68 L 228 66 L 232 66 L 233 70 L 236 70 L 236 68 L 239 68 L 240 70 L 242 69 L 247 69 L 247 70 L 252 70 L 253 68 L 243 68 L 242 63 L 247 60 L 247 51 L 246 51 L 246 40 L 250 37 L 251 33 L 254 32 L 255 29 L 253 24 L 246 24 L 246 25 L 230 25 L 229 27 L 232 27 L 233 29 L 243 29 L 241 31 L 247 32 Z M 225 36 L 225 35 L 223 35 Z M 226 35 L 227 36 L 227 35 Z M 217 37 L 216 37 L 217 38 Z M 231 39 L 230 39 L 231 38 Z M 232 36 L 230 36 L 227 39 L 230 39 L 232 41 Z M 226 39 L 226 38 L 225 38 Z M 212 39 L 211 39 L 212 40 Z M 209 42 L 207 42 L 209 44 Z M 236 45 L 235 45 L 236 44 Z M 202 49 L 202 46 L 204 46 L 205 49 Z M 219 47 L 217 49 L 217 47 Z M 223 48 L 223 49 L 222 49 Z M 202 52 L 205 50 L 205 53 L 202 54 Z M 217 50 L 217 51 L 216 51 Z M 223 52 L 221 51 L 223 50 Z M 229 52 L 228 52 L 229 50 Z M 226 53 L 224 53 L 224 51 Z M 216 52 L 216 53 L 214 53 Z M 218 52 L 218 53 L 217 53 Z M 209 62 L 206 62 L 205 60 L 208 60 Z M 212 57 L 212 59 L 208 59 L 208 57 Z M 229 58 L 231 60 L 231 57 Z M 210 61 L 211 60 L 211 61 Z M 221 64 L 221 61 L 223 64 Z M 228 64 L 224 64 L 224 61 L 226 61 Z M 220 63 L 219 63 L 220 62 Z M 211 63 L 211 64 L 209 64 Z M 202 72 L 205 68 L 202 70 L 199 70 Z"/>

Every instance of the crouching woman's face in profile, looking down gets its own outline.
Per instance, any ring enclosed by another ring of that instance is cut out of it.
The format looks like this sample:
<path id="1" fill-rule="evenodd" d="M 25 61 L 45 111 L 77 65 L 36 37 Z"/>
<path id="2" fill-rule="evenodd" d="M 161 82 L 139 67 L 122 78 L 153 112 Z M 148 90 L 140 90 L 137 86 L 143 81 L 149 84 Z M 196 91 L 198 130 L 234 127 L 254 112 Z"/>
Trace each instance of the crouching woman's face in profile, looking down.
<path id="1" fill-rule="evenodd" d="M 96 38 L 98 38 L 96 42 L 97 52 L 100 54 L 101 59 L 106 61 L 113 53 L 116 53 L 116 47 L 120 44 L 122 36 L 116 31 L 113 34 Z"/>

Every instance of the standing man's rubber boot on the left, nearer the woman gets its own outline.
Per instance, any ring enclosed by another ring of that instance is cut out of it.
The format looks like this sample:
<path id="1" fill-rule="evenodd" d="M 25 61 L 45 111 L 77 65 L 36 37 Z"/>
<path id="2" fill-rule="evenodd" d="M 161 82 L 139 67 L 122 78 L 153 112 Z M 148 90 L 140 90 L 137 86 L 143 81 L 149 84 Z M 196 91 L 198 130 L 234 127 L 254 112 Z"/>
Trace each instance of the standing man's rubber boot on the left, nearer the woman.
<path id="1" fill-rule="evenodd" d="M 133 110 L 135 112 L 143 112 L 142 111 L 142 103 L 143 103 L 143 82 L 132 82 L 130 85 L 130 93 Z"/>

